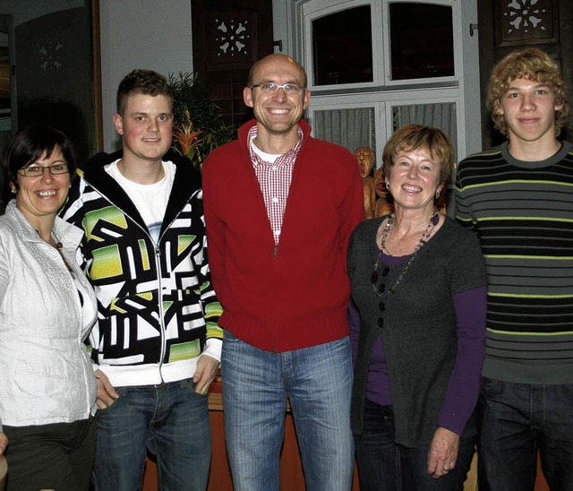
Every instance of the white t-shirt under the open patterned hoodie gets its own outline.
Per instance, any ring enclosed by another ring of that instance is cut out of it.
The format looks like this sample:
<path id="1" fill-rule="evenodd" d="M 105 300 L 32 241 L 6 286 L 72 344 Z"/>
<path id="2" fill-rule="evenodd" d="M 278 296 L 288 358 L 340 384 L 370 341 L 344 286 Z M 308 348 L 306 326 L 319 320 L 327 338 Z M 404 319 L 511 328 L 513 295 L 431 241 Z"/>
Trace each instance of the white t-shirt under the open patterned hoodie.
<path id="1" fill-rule="evenodd" d="M 147 225 L 150 236 L 157 244 L 175 178 L 175 164 L 171 161 L 163 162 L 165 176 L 157 183 L 143 185 L 124 177 L 117 168 L 117 162 L 119 159 L 107 164 L 106 172 L 117 181 L 118 185 L 122 186 L 125 193 L 130 197 L 135 208 L 140 212 L 145 225 Z"/>

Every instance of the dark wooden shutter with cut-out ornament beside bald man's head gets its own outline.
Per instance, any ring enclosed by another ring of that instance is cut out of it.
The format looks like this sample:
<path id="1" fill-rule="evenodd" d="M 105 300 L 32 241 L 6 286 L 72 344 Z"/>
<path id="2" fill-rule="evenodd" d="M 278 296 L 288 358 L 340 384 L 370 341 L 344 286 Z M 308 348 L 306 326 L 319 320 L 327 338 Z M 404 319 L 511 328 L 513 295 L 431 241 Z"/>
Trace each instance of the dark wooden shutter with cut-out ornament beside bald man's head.
<path id="1" fill-rule="evenodd" d="M 252 64 L 273 52 L 272 0 L 192 0 L 193 70 L 228 124 L 252 117 L 243 89 Z"/>

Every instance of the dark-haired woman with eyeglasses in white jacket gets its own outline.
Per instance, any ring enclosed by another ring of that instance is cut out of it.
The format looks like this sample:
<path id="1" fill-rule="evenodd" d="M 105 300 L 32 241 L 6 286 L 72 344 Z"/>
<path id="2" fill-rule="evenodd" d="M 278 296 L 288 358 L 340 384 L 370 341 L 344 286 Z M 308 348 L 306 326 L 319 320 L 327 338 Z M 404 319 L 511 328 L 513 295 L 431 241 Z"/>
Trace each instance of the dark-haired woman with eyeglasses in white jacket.
<path id="1" fill-rule="evenodd" d="M 72 142 L 47 127 L 21 131 L 2 159 L 4 185 L 15 197 L 0 217 L 8 491 L 90 486 L 96 378 L 83 340 L 96 320 L 96 298 L 74 260 L 82 232 L 56 216 L 74 170 Z"/>

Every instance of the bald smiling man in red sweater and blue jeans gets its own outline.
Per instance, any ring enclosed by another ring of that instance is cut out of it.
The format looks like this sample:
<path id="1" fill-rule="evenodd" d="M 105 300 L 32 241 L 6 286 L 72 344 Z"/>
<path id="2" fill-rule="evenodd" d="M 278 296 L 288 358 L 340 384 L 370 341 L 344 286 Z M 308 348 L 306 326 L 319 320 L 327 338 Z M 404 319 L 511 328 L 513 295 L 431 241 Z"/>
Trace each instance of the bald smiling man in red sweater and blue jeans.
<path id="1" fill-rule="evenodd" d="M 235 491 L 278 490 L 287 396 L 307 487 L 351 487 L 346 246 L 363 190 L 355 157 L 310 135 L 306 81 L 289 56 L 255 63 L 255 119 L 203 166 Z"/>

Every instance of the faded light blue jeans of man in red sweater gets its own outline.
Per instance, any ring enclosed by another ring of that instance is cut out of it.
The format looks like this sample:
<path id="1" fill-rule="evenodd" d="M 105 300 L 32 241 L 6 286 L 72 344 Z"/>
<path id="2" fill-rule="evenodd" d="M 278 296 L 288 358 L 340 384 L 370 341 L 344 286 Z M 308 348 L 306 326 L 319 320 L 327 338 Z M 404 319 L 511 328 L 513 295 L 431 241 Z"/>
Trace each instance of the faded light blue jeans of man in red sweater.
<path id="1" fill-rule="evenodd" d="M 221 369 L 227 456 L 235 491 L 278 490 L 287 395 L 307 489 L 350 489 L 354 448 L 347 337 L 273 353 L 225 332 Z"/>

